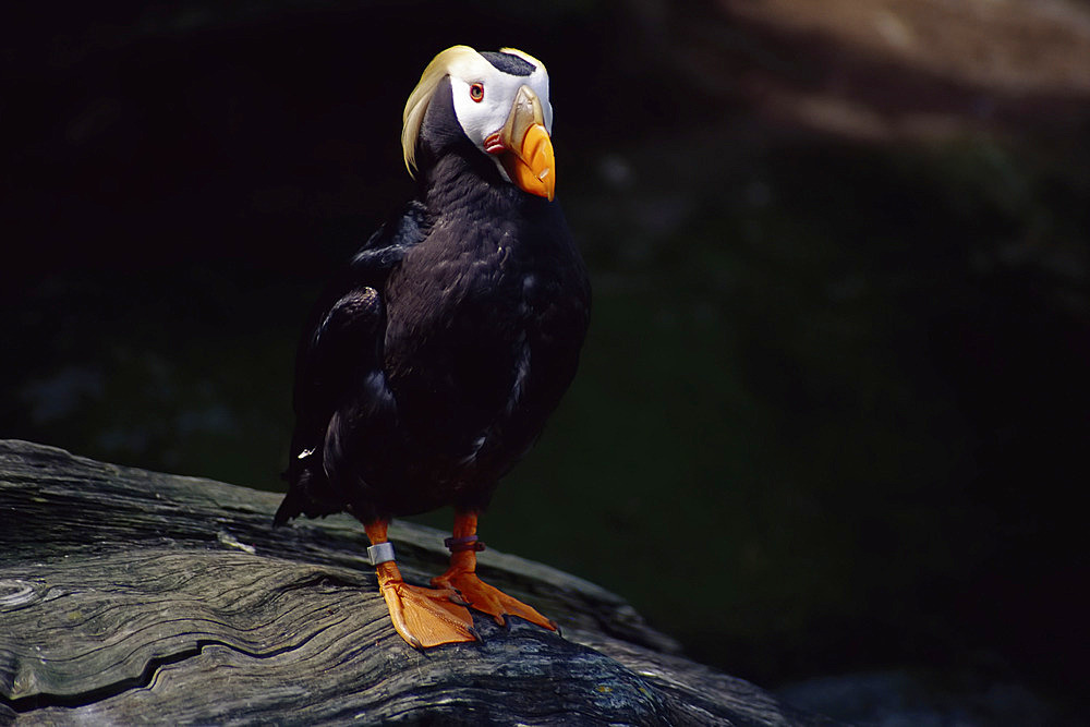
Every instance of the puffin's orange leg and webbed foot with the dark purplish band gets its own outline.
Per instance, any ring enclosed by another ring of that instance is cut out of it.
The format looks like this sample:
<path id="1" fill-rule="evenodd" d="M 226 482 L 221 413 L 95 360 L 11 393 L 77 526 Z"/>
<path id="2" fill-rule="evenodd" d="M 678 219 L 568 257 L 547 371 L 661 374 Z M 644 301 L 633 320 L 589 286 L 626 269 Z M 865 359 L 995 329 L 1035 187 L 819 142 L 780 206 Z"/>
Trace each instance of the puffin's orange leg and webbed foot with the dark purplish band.
<path id="1" fill-rule="evenodd" d="M 447 541 L 450 548 L 450 568 L 443 575 L 432 579 L 438 589 L 456 589 L 469 602 L 470 608 L 488 614 L 500 626 L 505 616 L 518 616 L 531 623 L 556 631 L 556 623 L 538 614 L 534 608 L 502 591 L 495 589 L 476 574 L 476 552 L 484 544 L 476 540 L 477 513 L 474 510 L 458 510 L 455 513 L 453 537 Z"/>

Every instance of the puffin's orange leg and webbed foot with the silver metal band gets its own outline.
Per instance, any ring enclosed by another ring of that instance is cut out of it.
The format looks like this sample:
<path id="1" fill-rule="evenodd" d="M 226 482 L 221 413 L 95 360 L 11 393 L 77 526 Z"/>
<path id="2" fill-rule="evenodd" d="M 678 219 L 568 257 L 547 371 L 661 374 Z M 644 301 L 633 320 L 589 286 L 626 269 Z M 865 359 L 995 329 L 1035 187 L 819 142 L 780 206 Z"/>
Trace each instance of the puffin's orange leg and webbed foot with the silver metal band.
<path id="1" fill-rule="evenodd" d="M 364 524 L 372 552 L 389 542 L 386 537 L 387 524 L 385 520 Z M 378 574 L 378 589 L 390 610 L 390 621 L 402 639 L 415 649 L 479 639 L 473 617 L 460 605 L 464 602 L 457 592 L 409 585 L 401 580 L 401 571 L 392 559 L 392 546 L 388 549 L 388 557 L 389 560 L 375 566 L 375 572 Z"/>

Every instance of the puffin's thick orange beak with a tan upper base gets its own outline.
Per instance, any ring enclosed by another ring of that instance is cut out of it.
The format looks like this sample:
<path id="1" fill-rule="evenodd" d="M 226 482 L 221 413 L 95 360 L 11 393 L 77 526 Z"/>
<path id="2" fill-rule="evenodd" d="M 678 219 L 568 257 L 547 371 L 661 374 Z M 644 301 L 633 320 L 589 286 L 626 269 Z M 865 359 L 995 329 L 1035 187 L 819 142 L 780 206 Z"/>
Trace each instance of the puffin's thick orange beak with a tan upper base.
<path id="1" fill-rule="evenodd" d="M 485 140 L 489 154 L 500 154 L 507 175 L 523 192 L 553 202 L 556 195 L 556 161 L 553 142 L 545 131 L 545 114 L 530 86 L 519 88 L 504 128 Z"/>

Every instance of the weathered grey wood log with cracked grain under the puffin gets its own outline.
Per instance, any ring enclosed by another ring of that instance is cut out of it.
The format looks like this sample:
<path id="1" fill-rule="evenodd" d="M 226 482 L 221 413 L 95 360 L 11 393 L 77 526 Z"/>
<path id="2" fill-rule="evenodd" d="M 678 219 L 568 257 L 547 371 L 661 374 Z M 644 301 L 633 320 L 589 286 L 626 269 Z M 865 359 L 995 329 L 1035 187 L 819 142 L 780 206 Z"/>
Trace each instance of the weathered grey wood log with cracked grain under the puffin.
<path id="1" fill-rule="evenodd" d="M 687 661 L 618 596 L 487 550 L 564 637 L 477 615 L 421 653 L 348 517 L 272 530 L 279 497 L 0 441 L 0 723 L 828 724 Z M 395 523 L 405 578 L 443 534 Z"/>

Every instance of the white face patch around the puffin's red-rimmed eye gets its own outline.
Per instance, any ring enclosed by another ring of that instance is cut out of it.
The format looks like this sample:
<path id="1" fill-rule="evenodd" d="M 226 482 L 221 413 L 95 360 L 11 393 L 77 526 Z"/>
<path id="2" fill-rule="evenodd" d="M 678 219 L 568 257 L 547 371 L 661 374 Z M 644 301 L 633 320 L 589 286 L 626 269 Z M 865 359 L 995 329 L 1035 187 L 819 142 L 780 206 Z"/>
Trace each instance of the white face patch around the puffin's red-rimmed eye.
<path id="1" fill-rule="evenodd" d="M 511 51 L 506 51 L 511 52 Z M 485 153 L 484 140 L 502 129 L 511 113 L 516 95 L 522 86 L 537 94 L 545 117 L 545 131 L 553 134 L 553 105 L 548 100 L 548 73 L 536 59 L 512 52 L 536 68 L 530 75 L 510 75 L 489 63 L 480 53 L 458 58 L 450 64 L 450 92 L 455 101 L 455 116 L 462 131 L 473 144 Z M 483 96 L 479 95 L 483 90 Z M 480 98 L 480 100 L 476 100 Z M 507 179 L 499 159 L 495 159 L 500 173 Z"/>

